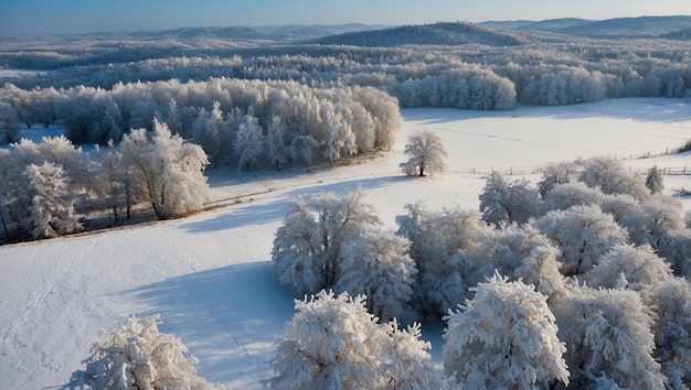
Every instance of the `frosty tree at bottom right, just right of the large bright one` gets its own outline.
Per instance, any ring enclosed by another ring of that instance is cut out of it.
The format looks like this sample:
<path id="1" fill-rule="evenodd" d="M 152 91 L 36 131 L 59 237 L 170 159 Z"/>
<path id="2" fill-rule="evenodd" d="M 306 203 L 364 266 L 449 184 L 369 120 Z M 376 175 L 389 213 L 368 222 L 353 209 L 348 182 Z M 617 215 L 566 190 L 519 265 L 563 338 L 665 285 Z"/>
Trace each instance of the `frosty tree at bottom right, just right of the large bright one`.
<path id="1" fill-rule="evenodd" d="M 638 293 L 576 286 L 557 301 L 550 307 L 566 343 L 572 386 L 665 388 L 667 379 L 652 355 L 655 314 Z"/>

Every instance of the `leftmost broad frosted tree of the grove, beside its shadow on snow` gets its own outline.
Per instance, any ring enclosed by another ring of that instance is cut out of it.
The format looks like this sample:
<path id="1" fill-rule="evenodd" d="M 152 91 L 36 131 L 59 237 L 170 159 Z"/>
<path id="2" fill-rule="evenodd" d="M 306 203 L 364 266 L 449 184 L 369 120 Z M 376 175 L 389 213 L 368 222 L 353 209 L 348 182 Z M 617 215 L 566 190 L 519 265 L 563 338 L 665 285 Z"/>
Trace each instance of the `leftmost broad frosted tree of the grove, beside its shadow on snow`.
<path id="1" fill-rule="evenodd" d="M 361 191 L 291 201 L 272 250 L 280 282 L 298 296 L 332 288 L 341 277 L 343 245 L 379 224 Z"/>

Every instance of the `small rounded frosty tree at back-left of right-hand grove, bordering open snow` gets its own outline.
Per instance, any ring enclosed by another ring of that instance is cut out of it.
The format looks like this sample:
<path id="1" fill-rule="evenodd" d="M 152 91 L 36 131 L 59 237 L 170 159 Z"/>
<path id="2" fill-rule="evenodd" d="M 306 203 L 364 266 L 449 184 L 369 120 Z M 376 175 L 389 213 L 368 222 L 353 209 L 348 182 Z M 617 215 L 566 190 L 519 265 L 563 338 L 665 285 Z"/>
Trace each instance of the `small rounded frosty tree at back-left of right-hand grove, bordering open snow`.
<path id="1" fill-rule="evenodd" d="M 492 172 L 479 195 L 482 219 L 488 224 L 524 224 L 539 214 L 540 197 L 530 182 L 507 181 L 500 172 Z"/>

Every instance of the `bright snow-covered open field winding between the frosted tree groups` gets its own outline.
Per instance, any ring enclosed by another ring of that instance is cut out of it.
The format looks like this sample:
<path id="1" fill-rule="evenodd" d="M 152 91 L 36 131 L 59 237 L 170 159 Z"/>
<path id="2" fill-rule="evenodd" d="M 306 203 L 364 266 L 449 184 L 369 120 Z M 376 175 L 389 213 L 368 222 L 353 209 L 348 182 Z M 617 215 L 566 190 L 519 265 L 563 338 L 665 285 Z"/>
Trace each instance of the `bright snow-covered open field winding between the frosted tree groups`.
<path id="1" fill-rule="evenodd" d="M 521 171 L 593 155 L 627 159 L 631 169 L 682 167 L 691 154 L 663 154 L 691 138 L 691 105 L 681 99 L 621 99 L 507 112 L 404 110 L 389 153 L 337 169 L 210 172 L 217 199 L 242 202 L 185 219 L 0 247 L 0 388 L 59 387 L 98 332 L 126 316 L 160 313 L 161 332 L 200 359 L 200 376 L 238 389 L 270 377 L 274 340 L 293 316 L 293 297 L 270 263 L 274 231 L 289 199 L 361 186 L 391 228 L 404 205 L 478 207 L 486 172 Z M 405 177 L 403 145 L 418 129 L 446 142 L 448 172 Z M 690 164 L 691 165 L 691 164 Z M 472 169 L 479 173 L 469 173 Z M 691 169 L 691 166 L 690 166 Z M 533 183 L 540 176 L 529 177 Z M 668 191 L 691 176 L 665 176 Z M 684 201 L 684 207 L 691 204 Z M 425 334 L 440 361 L 439 332 Z"/>

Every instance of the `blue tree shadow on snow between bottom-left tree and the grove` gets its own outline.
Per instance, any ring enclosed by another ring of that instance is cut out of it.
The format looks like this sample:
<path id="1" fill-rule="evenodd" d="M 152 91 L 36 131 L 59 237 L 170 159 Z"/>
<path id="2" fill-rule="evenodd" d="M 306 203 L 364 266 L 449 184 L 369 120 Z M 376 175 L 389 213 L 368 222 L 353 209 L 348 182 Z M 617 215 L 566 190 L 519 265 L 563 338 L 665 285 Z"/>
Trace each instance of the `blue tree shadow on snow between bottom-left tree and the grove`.
<path id="1" fill-rule="evenodd" d="M 138 317 L 160 314 L 159 331 L 179 337 L 200 359 L 200 376 L 235 388 L 259 388 L 261 379 L 273 376 L 274 343 L 295 306 L 270 261 L 194 272 L 123 294 L 142 307 Z"/>

